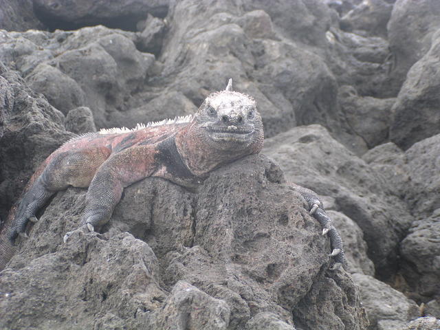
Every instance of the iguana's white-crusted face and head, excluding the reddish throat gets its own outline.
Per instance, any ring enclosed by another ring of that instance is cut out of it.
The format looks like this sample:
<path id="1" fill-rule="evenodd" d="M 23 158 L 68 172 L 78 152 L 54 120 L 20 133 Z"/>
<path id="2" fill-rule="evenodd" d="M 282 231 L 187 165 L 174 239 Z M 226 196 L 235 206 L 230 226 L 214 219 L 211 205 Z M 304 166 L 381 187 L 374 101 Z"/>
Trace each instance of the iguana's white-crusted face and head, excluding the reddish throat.
<path id="1" fill-rule="evenodd" d="M 206 135 L 206 143 L 212 148 L 238 151 L 257 140 L 262 144 L 263 124 L 255 100 L 232 91 L 231 79 L 224 91 L 212 93 L 206 98 L 195 120 Z"/>

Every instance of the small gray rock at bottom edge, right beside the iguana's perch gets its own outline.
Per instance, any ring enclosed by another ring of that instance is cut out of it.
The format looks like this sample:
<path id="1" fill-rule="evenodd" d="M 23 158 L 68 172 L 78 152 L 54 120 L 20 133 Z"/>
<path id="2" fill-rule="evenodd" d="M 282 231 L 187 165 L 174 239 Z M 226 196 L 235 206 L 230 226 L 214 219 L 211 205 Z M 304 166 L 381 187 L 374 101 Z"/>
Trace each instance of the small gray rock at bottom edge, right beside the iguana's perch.
<path id="1" fill-rule="evenodd" d="M 369 329 L 402 329 L 408 321 L 420 316 L 416 303 L 389 285 L 363 274 L 353 274 L 353 281 L 360 289 L 369 315 Z"/>

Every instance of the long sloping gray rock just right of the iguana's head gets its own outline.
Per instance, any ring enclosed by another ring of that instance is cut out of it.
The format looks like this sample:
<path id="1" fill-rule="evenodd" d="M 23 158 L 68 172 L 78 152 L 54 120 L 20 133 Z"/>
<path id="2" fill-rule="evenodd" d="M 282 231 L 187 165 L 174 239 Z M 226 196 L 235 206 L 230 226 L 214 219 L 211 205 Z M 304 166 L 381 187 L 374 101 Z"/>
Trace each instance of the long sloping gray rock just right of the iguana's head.
<path id="1" fill-rule="evenodd" d="M 336 199 L 336 210 L 353 219 L 364 232 L 377 274 L 393 273 L 399 241 L 413 218 L 380 172 L 318 125 L 299 126 L 267 139 L 264 153 L 278 162 L 288 181 Z"/>

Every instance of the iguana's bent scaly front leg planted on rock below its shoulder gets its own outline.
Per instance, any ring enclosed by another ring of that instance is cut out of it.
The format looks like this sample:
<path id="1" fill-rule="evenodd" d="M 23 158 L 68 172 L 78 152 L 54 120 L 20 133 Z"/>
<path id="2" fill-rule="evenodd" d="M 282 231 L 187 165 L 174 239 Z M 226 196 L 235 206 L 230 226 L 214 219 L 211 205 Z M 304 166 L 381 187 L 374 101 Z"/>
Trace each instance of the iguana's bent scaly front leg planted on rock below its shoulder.
<path id="1" fill-rule="evenodd" d="M 107 223 L 124 188 L 154 173 L 157 168 L 156 153 L 153 145 L 146 145 L 132 146 L 111 155 L 91 180 L 80 228 L 93 232 L 96 227 Z M 64 241 L 73 232 L 67 232 Z"/>

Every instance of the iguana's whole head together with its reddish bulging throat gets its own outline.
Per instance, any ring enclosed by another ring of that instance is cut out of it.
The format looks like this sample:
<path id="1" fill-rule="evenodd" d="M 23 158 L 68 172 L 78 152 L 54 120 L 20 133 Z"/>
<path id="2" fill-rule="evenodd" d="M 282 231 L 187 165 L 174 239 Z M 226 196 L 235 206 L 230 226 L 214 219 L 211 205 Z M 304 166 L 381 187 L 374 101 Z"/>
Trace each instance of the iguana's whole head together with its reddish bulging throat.
<path id="1" fill-rule="evenodd" d="M 263 148 L 263 123 L 254 99 L 231 89 L 230 80 L 224 91 L 210 94 L 176 135 L 181 159 L 194 175 L 204 176 Z"/>

